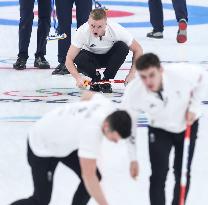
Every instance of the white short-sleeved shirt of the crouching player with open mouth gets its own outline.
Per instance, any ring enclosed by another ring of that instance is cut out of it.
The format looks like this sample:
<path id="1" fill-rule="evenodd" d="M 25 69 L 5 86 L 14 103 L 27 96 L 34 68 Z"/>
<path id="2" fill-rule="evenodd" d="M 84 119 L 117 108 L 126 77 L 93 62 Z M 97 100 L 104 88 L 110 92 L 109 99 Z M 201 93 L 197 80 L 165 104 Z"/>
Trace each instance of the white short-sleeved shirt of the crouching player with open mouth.
<path id="1" fill-rule="evenodd" d="M 77 29 L 72 39 L 72 45 L 95 54 L 105 54 L 117 41 L 123 41 L 130 46 L 133 42 L 133 37 L 126 28 L 108 20 L 105 36 L 102 39 L 95 37 L 91 33 L 87 22 Z"/>

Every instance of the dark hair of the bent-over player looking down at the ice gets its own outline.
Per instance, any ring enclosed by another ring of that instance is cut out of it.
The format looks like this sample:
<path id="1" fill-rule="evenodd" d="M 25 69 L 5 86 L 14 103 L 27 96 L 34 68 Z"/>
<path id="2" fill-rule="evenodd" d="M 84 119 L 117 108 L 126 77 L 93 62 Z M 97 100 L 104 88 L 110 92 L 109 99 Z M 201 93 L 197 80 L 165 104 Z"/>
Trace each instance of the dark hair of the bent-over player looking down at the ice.
<path id="1" fill-rule="evenodd" d="M 106 118 L 106 121 L 109 122 L 110 129 L 117 131 L 123 139 L 131 135 L 132 120 L 126 111 L 115 111 Z"/>

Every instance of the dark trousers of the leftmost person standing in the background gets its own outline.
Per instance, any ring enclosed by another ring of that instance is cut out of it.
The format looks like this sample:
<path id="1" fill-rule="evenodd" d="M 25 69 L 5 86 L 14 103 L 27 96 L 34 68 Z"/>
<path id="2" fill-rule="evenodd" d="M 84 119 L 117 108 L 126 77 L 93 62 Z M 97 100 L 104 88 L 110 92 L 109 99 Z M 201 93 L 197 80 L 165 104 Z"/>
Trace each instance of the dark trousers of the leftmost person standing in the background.
<path id="1" fill-rule="evenodd" d="M 19 57 L 28 58 L 28 47 L 32 32 L 35 0 L 19 0 L 20 23 L 19 23 Z M 46 54 L 46 37 L 51 24 L 51 0 L 38 0 L 38 31 L 37 51 L 35 56 Z"/>

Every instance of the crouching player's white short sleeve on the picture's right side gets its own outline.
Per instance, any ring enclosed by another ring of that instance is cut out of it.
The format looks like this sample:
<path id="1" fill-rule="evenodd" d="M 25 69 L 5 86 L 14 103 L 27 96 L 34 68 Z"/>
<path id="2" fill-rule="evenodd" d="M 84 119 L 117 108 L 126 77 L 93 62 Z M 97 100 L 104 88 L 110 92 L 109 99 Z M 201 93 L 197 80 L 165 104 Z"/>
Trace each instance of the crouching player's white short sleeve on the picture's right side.
<path id="1" fill-rule="evenodd" d="M 126 45 L 130 47 L 134 40 L 131 33 L 126 28 L 122 27 L 119 24 L 117 24 L 116 27 L 117 28 L 115 32 L 116 32 L 117 40 L 126 43 Z"/>

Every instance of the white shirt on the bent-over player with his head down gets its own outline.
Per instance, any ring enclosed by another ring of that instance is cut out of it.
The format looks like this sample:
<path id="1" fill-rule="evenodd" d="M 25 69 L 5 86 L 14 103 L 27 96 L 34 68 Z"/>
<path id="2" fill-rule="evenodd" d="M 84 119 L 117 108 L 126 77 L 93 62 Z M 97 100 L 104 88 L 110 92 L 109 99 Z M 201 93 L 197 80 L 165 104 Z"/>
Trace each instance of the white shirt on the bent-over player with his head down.
<path id="1" fill-rule="evenodd" d="M 70 103 L 39 120 L 29 133 L 29 145 L 40 157 L 66 157 L 78 149 L 80 157 L 97 158 L 105 118 L 114 104 L 100 94 L 90 101 Z"/>

